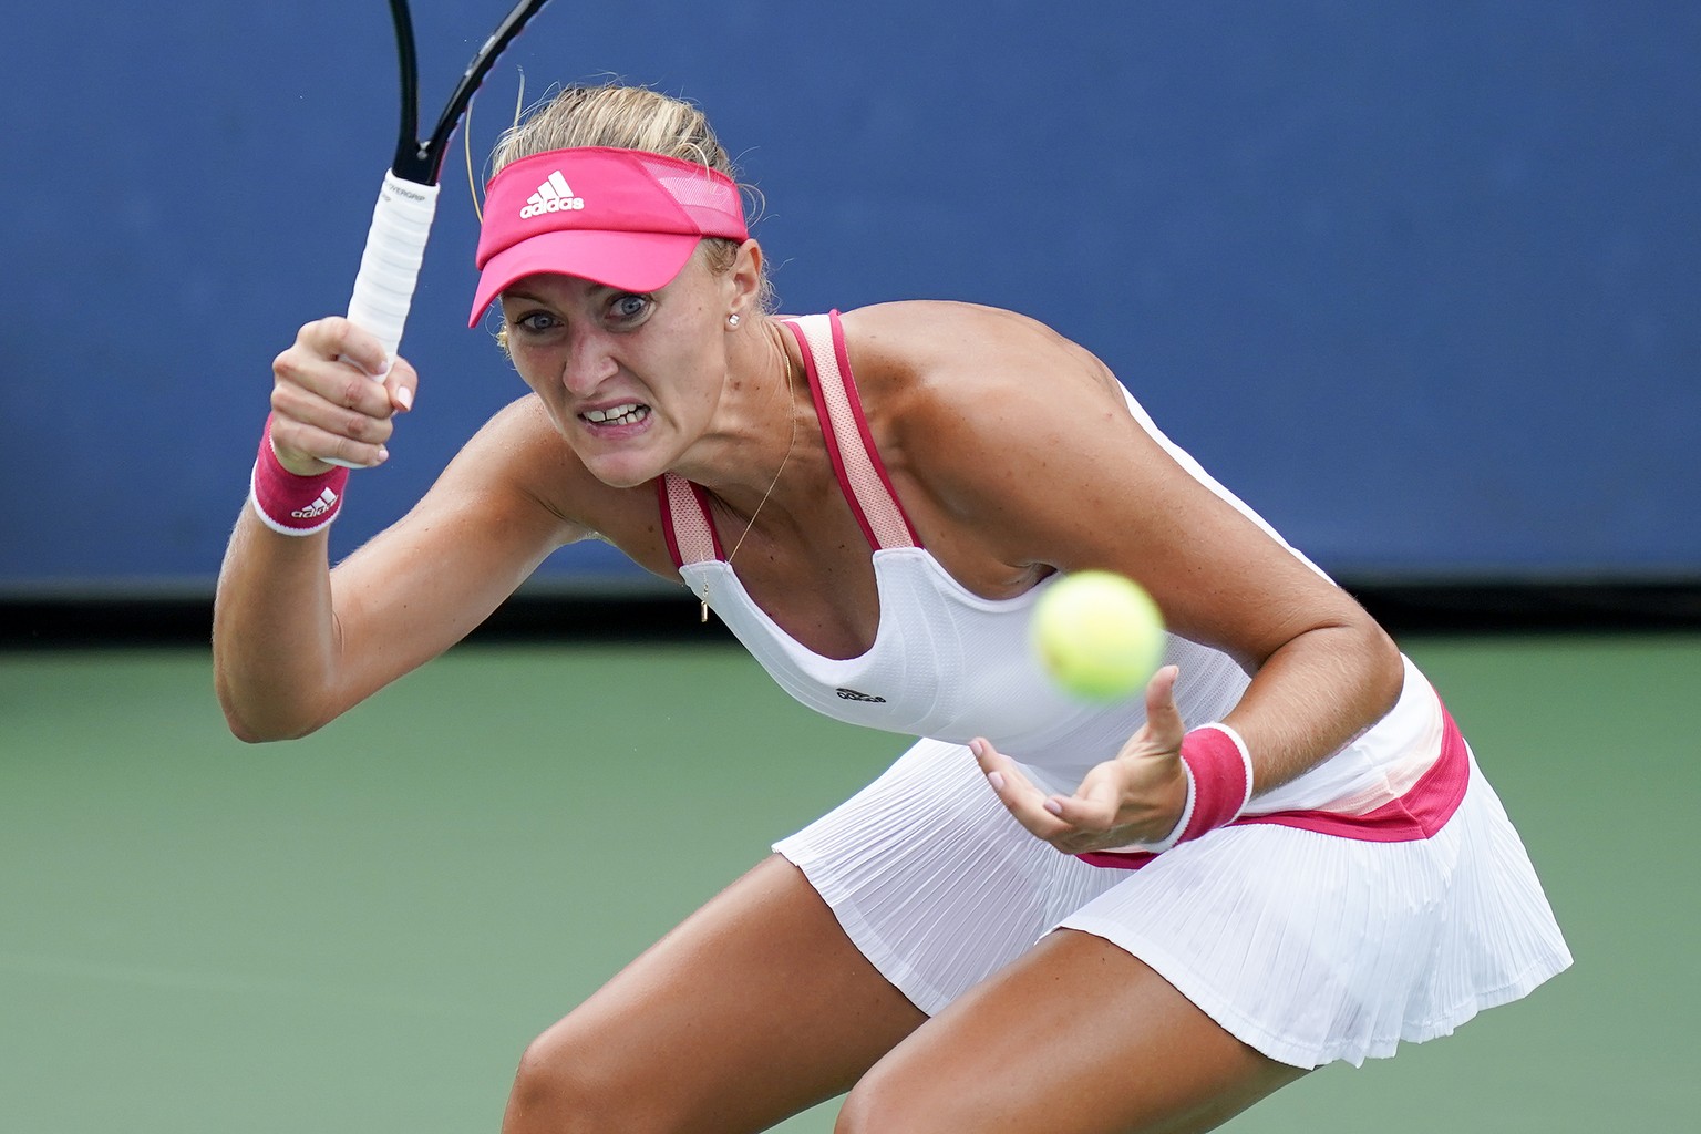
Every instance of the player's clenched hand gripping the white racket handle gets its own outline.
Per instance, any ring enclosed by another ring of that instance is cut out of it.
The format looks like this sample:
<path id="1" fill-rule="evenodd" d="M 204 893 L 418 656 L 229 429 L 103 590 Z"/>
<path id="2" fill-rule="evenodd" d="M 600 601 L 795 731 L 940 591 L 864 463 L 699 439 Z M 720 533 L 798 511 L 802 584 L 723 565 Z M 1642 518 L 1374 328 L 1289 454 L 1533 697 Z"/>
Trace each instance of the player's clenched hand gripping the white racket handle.
<path id="1" fill-rule="evenodd" d="M 272 449 L 284 468 L 369 468 L 390 457 L 391 418 L 413 405 L 418 374 L 344 318 L 308 323 L 272 362 Z"/>

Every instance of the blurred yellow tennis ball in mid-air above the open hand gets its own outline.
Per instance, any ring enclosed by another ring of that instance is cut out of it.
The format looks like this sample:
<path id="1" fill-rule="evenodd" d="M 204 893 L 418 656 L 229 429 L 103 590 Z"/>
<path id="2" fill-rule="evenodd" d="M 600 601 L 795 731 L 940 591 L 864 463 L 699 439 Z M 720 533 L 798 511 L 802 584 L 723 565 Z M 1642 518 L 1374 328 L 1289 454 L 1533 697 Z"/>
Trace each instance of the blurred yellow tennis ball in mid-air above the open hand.
<path id="1" fill-rule="evenodd" d="M 1034 604 L 1034 651 L 1056 683 L 1084 700 L 1140 690 L 1163 660 L 1163 614 L 1140 583 L 1077 571 Z"/>

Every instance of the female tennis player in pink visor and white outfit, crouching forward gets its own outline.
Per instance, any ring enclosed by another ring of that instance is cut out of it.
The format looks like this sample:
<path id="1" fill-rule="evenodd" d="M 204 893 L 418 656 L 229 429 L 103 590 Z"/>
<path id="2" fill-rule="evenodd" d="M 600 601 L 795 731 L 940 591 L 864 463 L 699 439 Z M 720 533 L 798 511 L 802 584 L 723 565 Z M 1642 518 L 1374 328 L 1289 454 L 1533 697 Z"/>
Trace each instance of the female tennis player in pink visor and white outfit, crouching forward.
<path id="1" fill-rule="evenodd" d="M 509 1134 L 842 1091 L 847 1132 L 1204 1131 L 1570 962 L 1436 690 L 1085 349 L 951 303 L 772 315 L 726 153 L 651 92 L 568 90 L 495 165 L 473 321 L 498 304 L 531 393 L 330 568 L 328 461 L 383 461 L 418 377 L 301 328 L 219 578 L 231 729 L 310 733 L 595 537 L 805 704 L 917 738 L 538 1037 Z M 1087 568 L 1170 627 L 1109 707 L 1027 648 Z"/>

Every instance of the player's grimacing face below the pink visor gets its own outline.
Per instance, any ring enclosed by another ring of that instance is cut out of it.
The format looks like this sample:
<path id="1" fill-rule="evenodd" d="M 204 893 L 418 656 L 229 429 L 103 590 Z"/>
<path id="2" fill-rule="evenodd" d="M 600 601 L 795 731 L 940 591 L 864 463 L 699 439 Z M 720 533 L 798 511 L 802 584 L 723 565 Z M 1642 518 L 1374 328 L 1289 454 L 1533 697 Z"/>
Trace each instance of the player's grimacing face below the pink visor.
<path id="1" fill-rule="evenodd" d="M 527 275 L 502 294 L 515 369 L 597 479 L 653 479 L 709 428 L 726 384 L 721 292 L 699 253 L 655 292 Z"/>

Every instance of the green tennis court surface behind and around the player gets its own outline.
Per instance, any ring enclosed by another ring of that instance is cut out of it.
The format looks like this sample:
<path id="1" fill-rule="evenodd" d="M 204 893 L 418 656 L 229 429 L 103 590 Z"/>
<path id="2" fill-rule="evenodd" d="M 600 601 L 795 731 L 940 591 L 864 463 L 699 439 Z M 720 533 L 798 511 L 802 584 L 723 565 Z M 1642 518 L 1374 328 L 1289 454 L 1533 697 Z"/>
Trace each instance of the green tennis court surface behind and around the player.
<path id="1" fill-rule="evenodd" d="M 1691 1129 L 1701 638 L 1407 648 L 1577 966 L 1228 1129 Z M 495 1131 L 538 1030 L 898 746 L 721 646 L 469 646 L 257 748 L 204 653 L 0 653 L 0 1131 Z"/>

